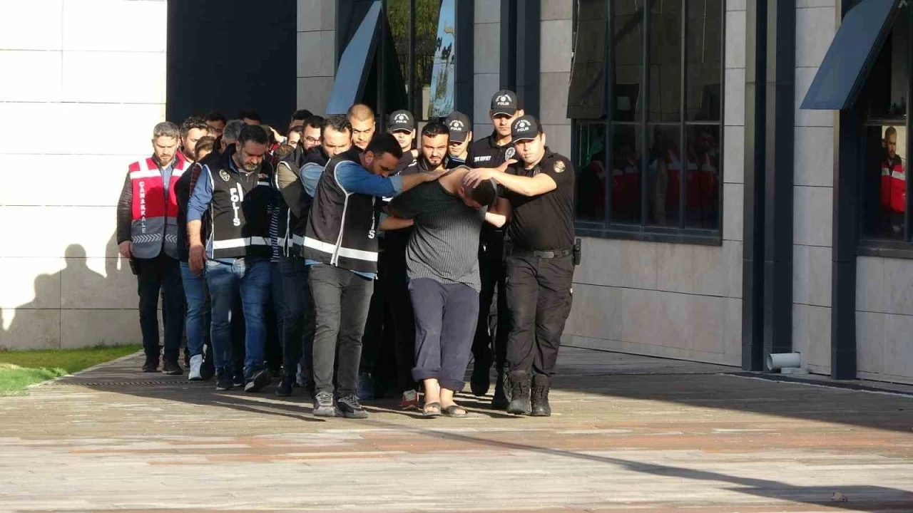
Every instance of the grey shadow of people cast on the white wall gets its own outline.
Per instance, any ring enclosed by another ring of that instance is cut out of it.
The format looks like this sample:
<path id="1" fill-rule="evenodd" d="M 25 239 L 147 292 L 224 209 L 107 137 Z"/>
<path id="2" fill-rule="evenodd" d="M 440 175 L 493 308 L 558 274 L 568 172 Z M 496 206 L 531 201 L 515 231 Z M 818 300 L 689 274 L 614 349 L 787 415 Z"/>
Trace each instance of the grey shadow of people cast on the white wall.
<path id="1" fill-rule="evenodd" d="M 116 234 L 111 235 L 105 247 L 105 255 L 117 255 Z M 34 298 L 31 301 L 5 312 L 7 319 L 12 318 L 9 319 L 8 326 L 4 311 L 0 309 L 0 350 L 79 347 L 86 344 L 78 341 L 68 343 L 68 340 L 85 340 L 87 334 L 75 334 L 68 330 L 88 331 L 110 321 L 105 319 L 103 309 L 97 308 L 103 301 L 89 301 L 95 299 L 93 295 L 109 293 L 107 291 L 112 290 L 116 275 L 130 272 L 126 262 L 121 257 L 105 257 L 105 273 L 101 274 L 89 267 L 86 248 L 79 244 L 67 246 L 64 257 L 63 269 L 35 277 Z M 112 283 L 107 283 L 109 281 Z M 65 299 L 65 295 L 69 299 Z M 70 304 L 64 304 L 67 300 Z M 120 308 L 135 309 L 135 304 L 122 305 Z M 69 310 L 83 311 L 68 315 Z M 122 341 L 127 343 L 134 340 Z"/>

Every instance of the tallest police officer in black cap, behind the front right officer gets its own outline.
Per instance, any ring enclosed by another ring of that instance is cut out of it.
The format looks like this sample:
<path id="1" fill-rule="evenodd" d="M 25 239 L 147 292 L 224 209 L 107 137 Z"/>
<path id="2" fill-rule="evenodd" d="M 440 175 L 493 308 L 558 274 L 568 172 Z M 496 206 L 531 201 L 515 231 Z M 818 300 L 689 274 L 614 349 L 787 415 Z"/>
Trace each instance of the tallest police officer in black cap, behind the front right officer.
<path id="1" fill-rule="evenodd" d="M 472 168 L 496 168 L 503 172 L 514 159 L 514 147 L 510 140 L 510 123 L 523 115 L 519 108 L 517 93 L 501 89 L 491 97 L 488 111 L 495 129 L 491 135 L 469 145 L 466 162 Z M 473 369 L 470 387 L 472 393 L 485 395 L 490 385 L 488 369 L 494 361 L 498 369 L 495 396 L 491 401 L 494 408 L 503 410 L 509 402 L 504 386 L 505 351 L 510 329 L 508 309 L 504 291 L 504 230 L 492 225 L 482 226 L 478 245 L 478 265 L 482 278 L 482 290 L 478 298 L 478 322 L 476 338 L 472 343 Z M 497 295 L 497 301 L 492 304 Z M 494 338 L 492 337 L 494 334 Z"/>

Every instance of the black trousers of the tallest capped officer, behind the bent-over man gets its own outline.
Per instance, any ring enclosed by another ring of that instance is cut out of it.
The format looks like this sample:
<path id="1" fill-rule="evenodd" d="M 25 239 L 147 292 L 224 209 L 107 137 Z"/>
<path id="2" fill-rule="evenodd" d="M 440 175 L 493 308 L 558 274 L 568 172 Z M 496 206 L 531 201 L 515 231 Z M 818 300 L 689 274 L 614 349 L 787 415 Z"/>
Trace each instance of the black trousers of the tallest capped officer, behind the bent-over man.
<path id="1" fill-rule="evenodd" d="M 495 368 L 507 361 L 510 310 L 507 305 L 503 237 L 483 237 L 478 246 L 478 270 L 482 289 L 478 297 L 478 321 L 472 354 L 476 361 L 488 361 L 485 351 L 493 351 Z"/>

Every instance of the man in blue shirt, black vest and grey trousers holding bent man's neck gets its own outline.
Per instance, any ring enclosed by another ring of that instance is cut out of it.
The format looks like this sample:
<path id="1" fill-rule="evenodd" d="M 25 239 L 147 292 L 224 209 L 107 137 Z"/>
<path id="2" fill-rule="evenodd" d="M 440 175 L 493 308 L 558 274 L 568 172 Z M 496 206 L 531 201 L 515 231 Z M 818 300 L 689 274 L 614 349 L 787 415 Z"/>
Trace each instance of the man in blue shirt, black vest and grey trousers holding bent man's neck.
<path id="1" fill-rule="evenodd" d="M 356 382 L 364 323 L 377 276 L 375 199 L 400 194 L 443 173 L 389 176 L 402 155 L 394 136 L 383 133 L 363 152 L 355 148 L 342 152 L 320 171 L 317 166 L 301 168 L 305 190 L 314 197 L 302 253 L 310 265 L 316 313 L 313 365 L 314 414 L 318 416 L 368 416 L 358 401 Z M 338 391 L 333 386 L 337 343 Z"/>

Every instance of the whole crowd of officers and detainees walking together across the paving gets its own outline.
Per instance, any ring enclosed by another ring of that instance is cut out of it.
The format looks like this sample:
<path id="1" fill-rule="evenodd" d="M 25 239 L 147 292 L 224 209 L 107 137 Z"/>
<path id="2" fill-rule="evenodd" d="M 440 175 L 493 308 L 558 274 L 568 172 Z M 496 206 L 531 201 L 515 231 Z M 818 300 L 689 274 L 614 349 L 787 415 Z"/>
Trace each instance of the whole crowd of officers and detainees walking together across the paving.
<path id="1" fill-rule="evenodd" d="M 162 372 L 184 372 L 185 327 L 190 380 L 257 392 L 275 373 L 276 393 L 303 386 L 318 416 L 367 417 L 381 384 L 404 408 L 465 416 L 470 358 L 479 396 L 495 364 L 494 408 L 551 414 L 579 259 L 574 171 L 514 92 L 493 96 L 490 117 L 475 142 L 461 112 L 417 131 L 397 110 L 375 133 L 361 104 L 299 110 L 284 135 L 252 112 L 156 125 L 118 208 L 143 371 L 161 353 Z"/>

